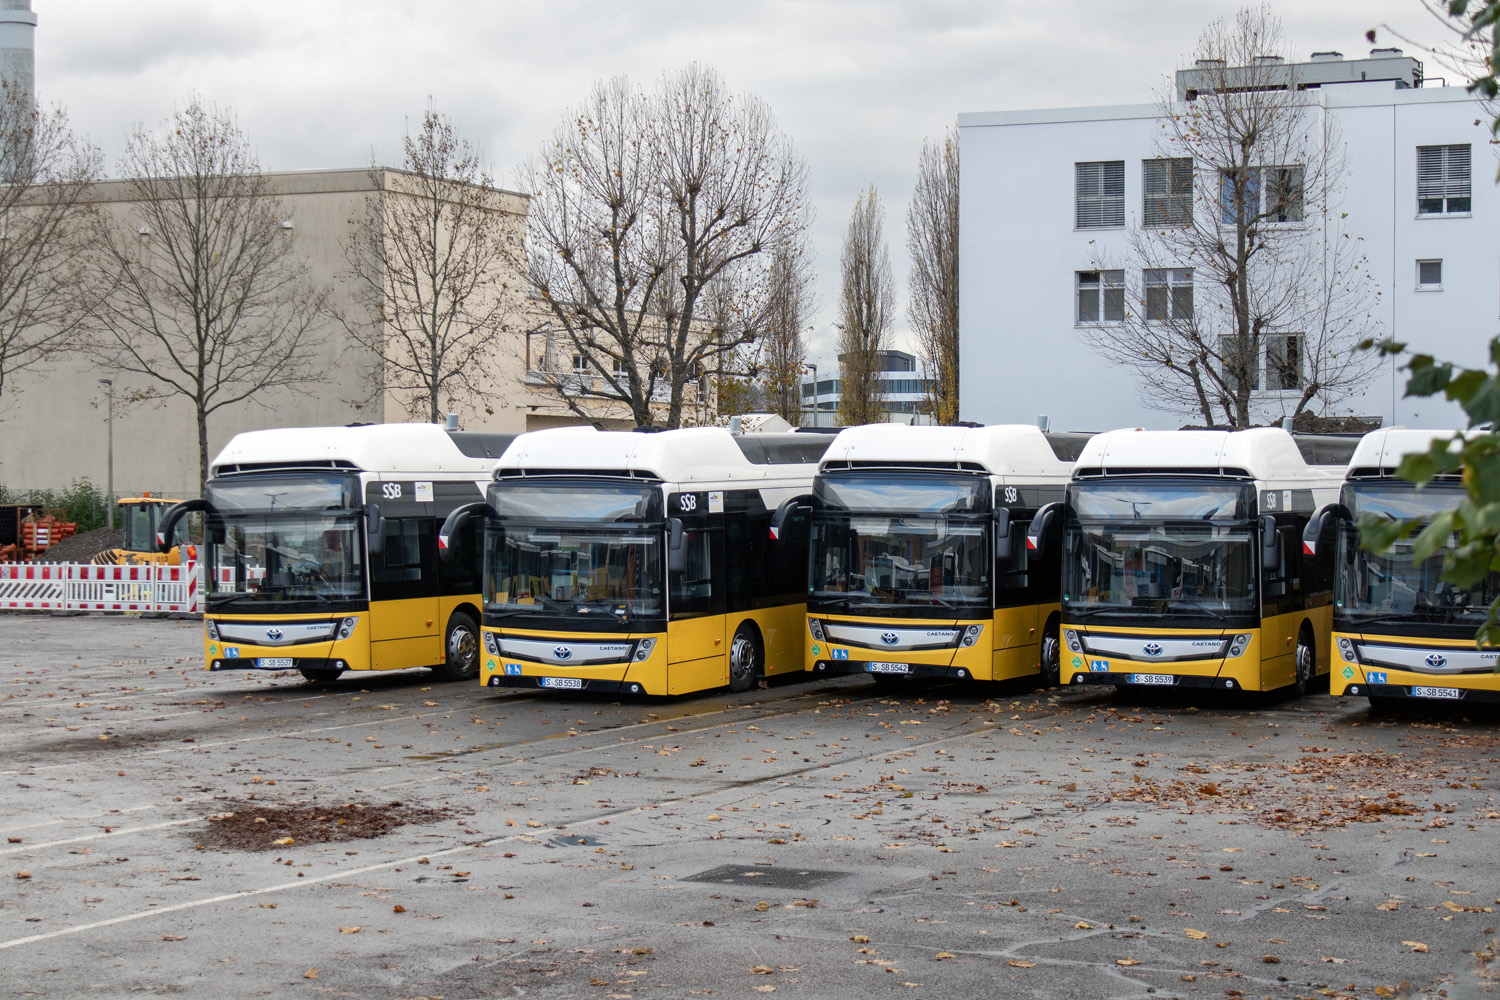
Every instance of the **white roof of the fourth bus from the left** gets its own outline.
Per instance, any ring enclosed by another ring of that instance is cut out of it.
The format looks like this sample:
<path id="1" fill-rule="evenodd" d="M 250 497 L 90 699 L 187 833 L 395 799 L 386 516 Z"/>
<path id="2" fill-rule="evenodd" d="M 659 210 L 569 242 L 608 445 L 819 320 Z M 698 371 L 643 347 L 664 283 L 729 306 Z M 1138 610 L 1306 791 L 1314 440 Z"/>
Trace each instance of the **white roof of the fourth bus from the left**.
<path id="1" fill-rule="evenodd" d="M 1342 445 L 1340 442 L 1344 442 Z M 1252 480 L 1326 478 L 1353 453 L 1356 438 L 1293 435 L 1281 427 L 1250 430 L 1110 430 L 1078 456 L 1074 477 L 1188 472 Z M 1308 462 L 1308 459 L 1314 462 Z M 1329 462 L 1334 459 L 1338 465 Z"/>

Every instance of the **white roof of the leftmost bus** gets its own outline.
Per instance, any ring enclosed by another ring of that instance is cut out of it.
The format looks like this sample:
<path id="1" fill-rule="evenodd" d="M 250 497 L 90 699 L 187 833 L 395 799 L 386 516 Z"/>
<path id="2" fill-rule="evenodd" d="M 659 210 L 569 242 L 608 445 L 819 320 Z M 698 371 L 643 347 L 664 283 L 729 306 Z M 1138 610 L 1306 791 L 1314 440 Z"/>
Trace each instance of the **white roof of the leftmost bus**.
<path id="1" fill-rule="evenodd" d="M 516 435 L 446 430 L 440 424 L 274 427 L 234 435 L 212 475 L 276 469 L 472 472 L 488 477 Z"/>

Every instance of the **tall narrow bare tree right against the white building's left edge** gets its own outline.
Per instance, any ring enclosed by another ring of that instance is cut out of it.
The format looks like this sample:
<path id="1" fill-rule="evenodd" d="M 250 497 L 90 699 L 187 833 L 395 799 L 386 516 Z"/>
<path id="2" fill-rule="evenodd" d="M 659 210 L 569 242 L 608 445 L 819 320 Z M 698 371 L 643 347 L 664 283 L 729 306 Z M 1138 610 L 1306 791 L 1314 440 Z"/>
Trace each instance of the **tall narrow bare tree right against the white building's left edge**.
<path id="1" fill-rule="evenodd" d="M 906 318 L 927 373 L 927 405 L 939 424 L 958 423 L 958 130 L 922 142 L 916 192 L 906 210 Z"/>

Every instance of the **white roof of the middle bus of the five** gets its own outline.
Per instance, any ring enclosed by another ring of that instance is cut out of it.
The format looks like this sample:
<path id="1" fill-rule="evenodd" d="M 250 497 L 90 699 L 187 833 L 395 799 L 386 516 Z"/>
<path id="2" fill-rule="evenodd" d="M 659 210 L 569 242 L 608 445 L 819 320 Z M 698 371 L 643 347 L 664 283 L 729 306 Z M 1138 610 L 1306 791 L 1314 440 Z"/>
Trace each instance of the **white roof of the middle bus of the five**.
<path id="1" fill-rule="evenodd" d="M 1035 424 L 864 424 L 838 432 L 828 445 L 819 471 L 915 466 L 970 469 L 990 475 L 1066 477 L 1088 439 L 1089 435 L 1044 433 Z"/>

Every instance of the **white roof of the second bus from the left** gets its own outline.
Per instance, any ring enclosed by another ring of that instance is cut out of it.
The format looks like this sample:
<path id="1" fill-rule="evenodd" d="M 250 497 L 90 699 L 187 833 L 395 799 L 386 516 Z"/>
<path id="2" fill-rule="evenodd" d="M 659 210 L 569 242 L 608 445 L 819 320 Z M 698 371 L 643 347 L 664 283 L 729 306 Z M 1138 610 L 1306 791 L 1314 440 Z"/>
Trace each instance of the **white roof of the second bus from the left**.
<path id="1" fill-rule="evenodd" d="M 640 433 L 554 427 L 516 438 L 495 474 L 609 474 L 666 483 L 768 480 L 795 466 L 814 466 L 828 447 L 822 435 L 732 435 L 723 427 L 682 427 Z M 812 468 L 806 469 L 812 475 Z"/>

